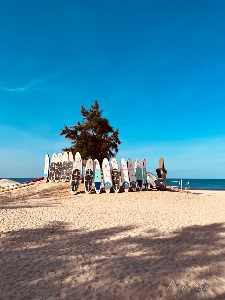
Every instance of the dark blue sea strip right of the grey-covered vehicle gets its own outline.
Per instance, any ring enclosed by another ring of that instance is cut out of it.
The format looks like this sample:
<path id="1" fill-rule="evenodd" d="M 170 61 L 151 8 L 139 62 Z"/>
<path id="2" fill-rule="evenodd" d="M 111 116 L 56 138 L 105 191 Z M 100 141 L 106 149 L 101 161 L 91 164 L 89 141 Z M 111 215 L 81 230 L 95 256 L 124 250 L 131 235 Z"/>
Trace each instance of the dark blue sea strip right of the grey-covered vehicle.
<path id="1" fill-rule="evenodd" d="M 181 178 L 167 178 L 168 181 L 179 180 L 181 184 Z M 182 188 L 185 189 L 186 183 L 189 181 L 191 190 L 225 190 L 225 179 L 191 179 L 191 178 L 182 178 Z M 167 185 L 179 185 L 178 182 L 171 182 Z M 177 187 L 181 188 L 181 187 Z"/>

